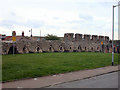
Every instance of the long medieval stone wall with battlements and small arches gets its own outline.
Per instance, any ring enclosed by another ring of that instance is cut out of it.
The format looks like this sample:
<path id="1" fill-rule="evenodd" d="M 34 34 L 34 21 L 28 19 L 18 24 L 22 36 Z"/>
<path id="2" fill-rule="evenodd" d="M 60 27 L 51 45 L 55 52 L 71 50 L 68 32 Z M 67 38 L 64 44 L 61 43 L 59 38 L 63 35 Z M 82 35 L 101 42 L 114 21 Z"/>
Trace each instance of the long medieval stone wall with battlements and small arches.
<path id="1" fill-rule="evenodd" d="M 103 45 L 101 44 L 103 42 Z M 60 40 L 31 40 L 22 38 L 14 43 L 15 53 L 40 52 L 105 52 L 112 51 L 109 37 L 65 33 Z M 13 43 L 2 43 L 2 54 L 12 54 Z"/>

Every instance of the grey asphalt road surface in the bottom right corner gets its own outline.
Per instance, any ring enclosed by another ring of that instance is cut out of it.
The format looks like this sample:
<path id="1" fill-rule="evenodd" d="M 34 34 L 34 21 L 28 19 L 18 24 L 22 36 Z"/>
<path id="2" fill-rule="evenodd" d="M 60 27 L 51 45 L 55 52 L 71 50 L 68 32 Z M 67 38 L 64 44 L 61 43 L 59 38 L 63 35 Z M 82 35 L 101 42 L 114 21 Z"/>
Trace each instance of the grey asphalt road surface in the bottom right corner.
<path id="1" fill-rule="evenodd" d="M 118 88 L 118 72 L 54 85 L 48 88 Z"/>

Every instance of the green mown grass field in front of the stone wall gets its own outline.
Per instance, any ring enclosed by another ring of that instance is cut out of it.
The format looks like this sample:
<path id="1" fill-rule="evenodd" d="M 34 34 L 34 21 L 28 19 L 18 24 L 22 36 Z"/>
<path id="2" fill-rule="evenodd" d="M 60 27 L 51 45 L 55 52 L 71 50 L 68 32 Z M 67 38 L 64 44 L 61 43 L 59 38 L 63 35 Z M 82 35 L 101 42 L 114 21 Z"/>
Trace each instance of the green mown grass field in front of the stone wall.
<path id="1" fill-rule="evenodd" d="M 72 52 L 3 55 L 2 79 L 40 77 L 111 65 L 111 53 Z M 115 54 L 118 64 L 118 54 Z"/>

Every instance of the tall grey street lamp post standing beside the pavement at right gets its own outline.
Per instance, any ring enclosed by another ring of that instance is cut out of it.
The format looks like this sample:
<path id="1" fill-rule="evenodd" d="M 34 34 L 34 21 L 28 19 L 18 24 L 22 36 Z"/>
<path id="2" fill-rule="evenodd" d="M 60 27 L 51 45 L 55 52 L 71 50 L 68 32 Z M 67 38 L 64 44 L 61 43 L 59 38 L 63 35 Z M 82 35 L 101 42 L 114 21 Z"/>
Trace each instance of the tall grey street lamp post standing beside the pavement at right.
<path id="1" fill-rule="evenodd" d="M 112 66 L 114 66 L 114 8 L 120 4 L 113 6 L 113 20 L 112 20 Z"/>

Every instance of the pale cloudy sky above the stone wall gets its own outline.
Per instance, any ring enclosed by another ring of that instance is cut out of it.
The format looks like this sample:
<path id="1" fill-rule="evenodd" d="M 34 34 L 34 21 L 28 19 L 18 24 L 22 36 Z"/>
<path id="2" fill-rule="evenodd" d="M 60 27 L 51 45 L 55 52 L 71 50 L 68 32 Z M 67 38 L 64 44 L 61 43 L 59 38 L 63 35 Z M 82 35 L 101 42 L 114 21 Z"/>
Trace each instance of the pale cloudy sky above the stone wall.
<path id="1" fill-rule="evenodd" d="M 0 34 L 63 37 L 64 33 L 109 36 L 112 39 L 112 6 L 119 0 L 0 0 Z M 118 7 L 115 8 L 118 39 Z"/>

